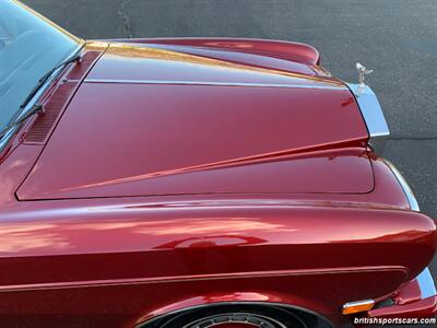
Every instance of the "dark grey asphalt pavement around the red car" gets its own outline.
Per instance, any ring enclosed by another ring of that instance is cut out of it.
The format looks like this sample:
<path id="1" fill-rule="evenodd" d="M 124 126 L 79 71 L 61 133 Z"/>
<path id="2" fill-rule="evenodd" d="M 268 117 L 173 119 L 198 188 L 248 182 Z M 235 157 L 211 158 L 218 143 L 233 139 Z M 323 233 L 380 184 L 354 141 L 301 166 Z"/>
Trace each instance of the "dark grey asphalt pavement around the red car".
<path id="1" fill-rule="evenodd" d="M 24 0 L 83 38 L 226 36 L 307 43 L 335 77 L 374 73 L 391 137 L 383 155 L 437 219 L 436 0 Z M 432 272 L 437 277 L 436 260 Z M 435 279 L 436 280 L 436 279 Z M 410 326 L 411 327 L 411 326 Z"/>

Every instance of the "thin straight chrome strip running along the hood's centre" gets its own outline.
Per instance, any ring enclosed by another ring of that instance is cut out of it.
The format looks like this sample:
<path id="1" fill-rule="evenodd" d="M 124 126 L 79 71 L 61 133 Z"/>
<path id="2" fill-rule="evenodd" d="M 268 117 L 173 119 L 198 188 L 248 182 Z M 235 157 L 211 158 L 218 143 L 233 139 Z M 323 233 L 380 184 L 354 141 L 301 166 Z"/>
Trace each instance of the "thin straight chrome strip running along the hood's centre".
<path id="1" fill-rule="evenodd" d="M 279 84 L 279 83 L 246 83 L 246 82 L 214 82 L 214 81 L 177 81 L 177 80 L 123 80 L 123 79 L 86 79 L 85 83 L 123 83 L 123 84 L 176 84 L 176 85 L 216 85 L 216 86 L 256 86 L 256 87 L 290 87 L 290 89 L 322 89 L 346 90 L 336 85 L 317 84 Z"/>

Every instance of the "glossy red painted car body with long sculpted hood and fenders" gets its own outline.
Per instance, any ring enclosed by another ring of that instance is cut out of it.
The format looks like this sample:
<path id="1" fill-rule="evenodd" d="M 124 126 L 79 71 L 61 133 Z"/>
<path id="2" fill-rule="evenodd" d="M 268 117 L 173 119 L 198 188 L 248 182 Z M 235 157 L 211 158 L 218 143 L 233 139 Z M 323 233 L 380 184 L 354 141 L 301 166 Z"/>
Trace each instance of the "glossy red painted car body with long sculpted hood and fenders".
<path id="1" fill-rule="evenodd" d="M 222 304 L 332 326 L 435 314 L 416 278 L 435 222 L 357 99 L 303 44 L 88 42 L 0 155 L 1 325 L 158 327 Z M 391 303 L 342 314 L 362 300 Z"/>

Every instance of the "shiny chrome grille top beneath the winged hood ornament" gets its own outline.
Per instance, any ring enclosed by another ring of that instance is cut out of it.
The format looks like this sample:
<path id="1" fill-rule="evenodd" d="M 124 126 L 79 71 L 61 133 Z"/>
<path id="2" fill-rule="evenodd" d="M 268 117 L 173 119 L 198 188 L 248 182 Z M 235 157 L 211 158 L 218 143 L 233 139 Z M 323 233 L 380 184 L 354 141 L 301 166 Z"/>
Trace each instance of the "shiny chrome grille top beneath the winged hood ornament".
<path id="1" fill-rule="evenodd" d="M 354 83 L 346 83 L 346 85 L 354 94 L 359 110 L 362 112 L 369 132 L 371 145 L 377 152 L 381 152 L 385 141 L 390 136 L 390 130 L 376 94 L 368 85 L 366 85 L 365 89 L 359 89 L 359 85 Z M 359 96 L 357 95 L 358 89 L 361 90 Z"/>

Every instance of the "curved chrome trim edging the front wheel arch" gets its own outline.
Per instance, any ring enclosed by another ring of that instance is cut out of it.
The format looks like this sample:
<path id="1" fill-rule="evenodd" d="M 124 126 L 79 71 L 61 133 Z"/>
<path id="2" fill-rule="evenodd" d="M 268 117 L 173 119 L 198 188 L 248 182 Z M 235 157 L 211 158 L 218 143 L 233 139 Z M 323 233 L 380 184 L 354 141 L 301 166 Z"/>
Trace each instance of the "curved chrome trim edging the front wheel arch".
<path id="1" fill-rule="evenodd" d="M 137 323 L 135 328 L 147 328 L 149 325 L 156 323 L 160 319 L 164 319 L 166 317 L 170 317 L 174 315 L 178 315 L 181 314 L 184 312 L 190 312 L 190 311 L 194 311 L 194 309 L 200 309 L 200 308 L 206 308 L 206 307 L 216 307 L 216 306 L 226 306 L 226 305 L 258 305 L 258 306 L 276 306 L 276 307 L 284 307 L 284 308 L 290 308 L 290 309 L 297 309 L 310 315 L 314 315 L 316 317 L 318 317 L 320 320 L 324 321 L 329 327 L 333 328 L 334 325 L 323 315 L 314 312 L 311 309 L 307 309 L 300 306 L 295 306 L 295 305 L 288 305 L 288 304 L 284 304 L 284 303 L 277 303 L 277 302 L 253 302 L 253 301 L 235 301 L 235 302 L 216 302 L 216 303 L 210 303 L 210 304 L 202 304 L 202 305 L 193 305 L 193 306 L 188 306 L 185 308 L 180 308 L 180 309 L 176 309 L 166 314 L 161 314 L 161 315 L 156 315 L 145 321 L 142 323 Z M 141 318 L 139 321 L 144 320 L 144 317 Z"/>

